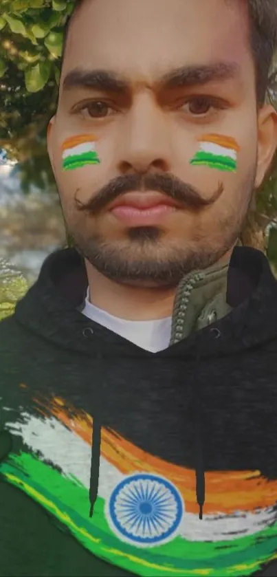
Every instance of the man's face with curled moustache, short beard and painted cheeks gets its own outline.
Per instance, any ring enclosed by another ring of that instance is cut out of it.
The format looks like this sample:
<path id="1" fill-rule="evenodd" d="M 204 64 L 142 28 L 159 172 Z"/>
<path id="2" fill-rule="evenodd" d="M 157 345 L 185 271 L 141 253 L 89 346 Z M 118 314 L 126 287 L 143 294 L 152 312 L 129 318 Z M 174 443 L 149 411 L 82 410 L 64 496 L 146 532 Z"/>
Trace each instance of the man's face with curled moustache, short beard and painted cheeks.
<path id="1" fill-rule="evenodd" d="M 76 15 L 49 153 L 76 247 L 110 279 L 175 285 L 234 246 L 257 167 L 248 27 L 241 1 L 89 0 Z M 100 164 L 64 170 L 63 144 L 80 135 Z M 190 162 L 203 144 L 223 166 Z"/>

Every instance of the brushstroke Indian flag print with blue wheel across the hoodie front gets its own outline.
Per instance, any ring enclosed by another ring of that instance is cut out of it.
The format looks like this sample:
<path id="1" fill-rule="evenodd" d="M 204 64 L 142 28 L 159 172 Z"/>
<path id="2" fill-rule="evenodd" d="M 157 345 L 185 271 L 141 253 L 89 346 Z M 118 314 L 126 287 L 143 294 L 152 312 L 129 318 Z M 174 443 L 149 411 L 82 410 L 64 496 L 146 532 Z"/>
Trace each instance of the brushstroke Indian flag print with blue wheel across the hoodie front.
<path id="1" fill-rule="evenodd" d="M 0 475 L 92 554 L 147 577 L 251 576 L 277 558 L 277 481 L 258 470 L 206 472 L 200 520 L 194 470 L 106 428 L 90 518 L 93 420 L 60 398 L 34 402 L 32 414 L 5 426 L 23 448 L 1 464 Z"/>

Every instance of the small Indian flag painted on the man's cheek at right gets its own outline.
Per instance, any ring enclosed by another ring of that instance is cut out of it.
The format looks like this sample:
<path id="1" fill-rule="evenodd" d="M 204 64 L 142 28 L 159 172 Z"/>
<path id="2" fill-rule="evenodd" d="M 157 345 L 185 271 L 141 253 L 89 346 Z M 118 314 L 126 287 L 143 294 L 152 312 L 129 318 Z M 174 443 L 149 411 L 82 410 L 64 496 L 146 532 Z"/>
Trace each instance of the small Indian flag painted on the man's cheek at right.
<path id="1" fill-rule="evenodd" d="M 240 146 L 234 138 L 220 134 L 207 134 L 199 137 L 199 151 L 190 160 L 194 166 L 209 166 L 219 171 L 236 172 L 237 155 Z"/>

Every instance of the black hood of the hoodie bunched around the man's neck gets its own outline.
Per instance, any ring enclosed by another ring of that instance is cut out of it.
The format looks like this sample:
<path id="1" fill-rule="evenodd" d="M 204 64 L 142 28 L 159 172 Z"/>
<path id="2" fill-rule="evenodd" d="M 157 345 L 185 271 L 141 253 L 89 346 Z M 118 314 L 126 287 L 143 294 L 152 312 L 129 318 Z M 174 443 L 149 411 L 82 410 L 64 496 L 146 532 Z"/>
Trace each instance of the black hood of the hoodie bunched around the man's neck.
<path id="1" fill-rule="evenodd" d="M 209 275 L 215 290 L 210 289 Z M 87 286 L 85 261 L 77 250 L 56 250 L 43 263 L 36 283 L 17 303 L 14 318 L 57 347 L 89 356 L 95 349 L 95 353 L 109 350 L 109 356 L 191 357 L 199 348 L 202 357 L 229 355 L 277 335 L 277 281 L 263 252 L 254 248 L 236 246 L 229 267 L 196 271 L 181 281 L 173 309 L 171 346 L 158 353 L 144 351 L 82 315 Z M 208 299 L 206 316 L 210 320 L 206 323 L 201 323 L 206 304 L 203 295 Z M 224 316 L 214 316 L 218 303 Z M 192 305 L 199 316 L 194 332 Z"/>

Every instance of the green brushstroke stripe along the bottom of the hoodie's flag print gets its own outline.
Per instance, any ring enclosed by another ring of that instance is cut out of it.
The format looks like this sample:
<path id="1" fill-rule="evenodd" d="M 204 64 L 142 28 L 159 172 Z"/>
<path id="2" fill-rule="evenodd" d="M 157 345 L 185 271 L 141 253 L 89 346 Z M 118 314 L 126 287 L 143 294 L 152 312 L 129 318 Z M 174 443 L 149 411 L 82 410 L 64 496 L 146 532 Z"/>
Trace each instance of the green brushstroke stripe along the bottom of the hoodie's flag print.
<path id="1" fill-rule="evenodd" d="M 98 498 L 91 523 L 88 490 L 34 455 L 12 455 L 0 466 L 0 475 L 52 512 L 91 553 L 140 576 L 180 577 L 180 571 L 185 571 L 186 577 L 245 577 L 277 558 L 277 523 L 234 541 L 201 543 L 177 537 L 166 545 L 140 549 L 111 532 L 104 499 Z"/>

